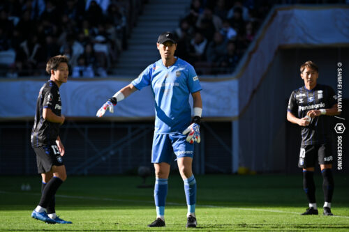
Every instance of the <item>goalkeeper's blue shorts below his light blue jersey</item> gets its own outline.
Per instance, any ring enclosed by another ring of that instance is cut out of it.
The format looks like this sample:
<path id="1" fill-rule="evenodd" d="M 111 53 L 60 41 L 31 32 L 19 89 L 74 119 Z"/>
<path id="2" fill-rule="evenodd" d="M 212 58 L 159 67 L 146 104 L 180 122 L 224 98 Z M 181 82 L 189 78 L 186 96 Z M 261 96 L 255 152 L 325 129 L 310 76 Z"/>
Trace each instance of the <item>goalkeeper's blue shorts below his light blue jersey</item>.
<path id="1" fill-rule="evenodd" d="M 151 162 L 167 162 L 171 164 L 173 153 L 177 159 L 180 157 L 194 156 L 194 144 L 186 141 L 187 135 L 179 132 L 171 134 L 154 134 L 153 150 L 151 151 Z"/>

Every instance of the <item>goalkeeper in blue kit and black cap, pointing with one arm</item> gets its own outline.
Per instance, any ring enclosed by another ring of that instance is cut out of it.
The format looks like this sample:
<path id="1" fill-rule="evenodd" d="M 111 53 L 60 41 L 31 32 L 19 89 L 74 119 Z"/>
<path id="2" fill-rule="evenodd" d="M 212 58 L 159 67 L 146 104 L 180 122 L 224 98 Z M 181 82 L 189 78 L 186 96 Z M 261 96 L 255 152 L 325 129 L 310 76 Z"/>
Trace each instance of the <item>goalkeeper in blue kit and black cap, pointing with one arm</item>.
<path id="1" fill-rule="evenodd" d="M 194 142 L 200 143 L 200 119 L 202 90 L 198 75 L 192 65 L 174 56 L 177 40 L 170 32 L 158 36 L 156 43 L 161 59 L 149 65 L 131 84 L 121 88 L 98 110 L 101 117 L 107 109 L 124 100 L 128 95 L 151 86 L 155 100 L 155 132 L 151 162 L 155 168 L 154 199 L 156 220 L 149 227 L 165 226 L 165 200 L 168 193 L 168 176 L 172 154 L 184 181 L 188 205 L 186 227 L 196 227 L 196 182 L 192 171 Z M 194 118 L 191 121 L 189 95 L 193 97 Z"/>

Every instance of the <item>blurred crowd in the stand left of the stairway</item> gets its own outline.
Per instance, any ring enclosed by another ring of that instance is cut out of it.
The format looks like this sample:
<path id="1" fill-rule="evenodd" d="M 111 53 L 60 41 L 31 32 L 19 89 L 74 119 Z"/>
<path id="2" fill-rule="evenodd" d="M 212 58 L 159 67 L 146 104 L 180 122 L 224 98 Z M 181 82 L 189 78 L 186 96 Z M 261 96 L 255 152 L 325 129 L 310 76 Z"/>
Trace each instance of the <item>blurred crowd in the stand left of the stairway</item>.
<path id="1" fill-rule="evenodd" d="M 127 48 L 143 2 L 0 1 L 0 75 L 44 75 L 50 57 L 66 54 L 73 77 L 106 77 Z"/>

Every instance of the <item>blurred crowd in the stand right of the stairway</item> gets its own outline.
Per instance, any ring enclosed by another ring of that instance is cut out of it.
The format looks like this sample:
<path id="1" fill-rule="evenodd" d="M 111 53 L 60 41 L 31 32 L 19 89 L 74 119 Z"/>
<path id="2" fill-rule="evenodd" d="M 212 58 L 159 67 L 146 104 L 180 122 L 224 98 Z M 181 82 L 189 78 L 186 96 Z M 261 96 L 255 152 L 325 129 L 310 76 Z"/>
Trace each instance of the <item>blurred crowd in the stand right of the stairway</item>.
<path id="1" fill-rule="evenodd" d="M 270 7 L 267 1 L 192 0 L 174 31 L 177 56 L 198 74 L 232 73 Z"/>

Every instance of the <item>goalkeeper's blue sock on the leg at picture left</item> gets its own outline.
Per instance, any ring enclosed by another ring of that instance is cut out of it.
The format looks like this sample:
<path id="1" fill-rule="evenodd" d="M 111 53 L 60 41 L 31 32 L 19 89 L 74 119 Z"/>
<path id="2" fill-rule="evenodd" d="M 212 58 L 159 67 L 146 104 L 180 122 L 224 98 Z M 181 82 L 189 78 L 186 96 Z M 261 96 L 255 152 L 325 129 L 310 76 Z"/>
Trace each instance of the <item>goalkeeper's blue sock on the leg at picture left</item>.
<path id="1" fill-rule="evenodd" d="M 168 195 L 168 179 L 156 178 L 154 187 L 154 199 L 156 206 L 156 217 L 165 215 L 165 201 Z"/>

